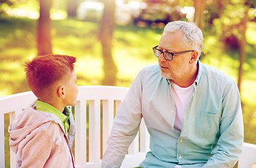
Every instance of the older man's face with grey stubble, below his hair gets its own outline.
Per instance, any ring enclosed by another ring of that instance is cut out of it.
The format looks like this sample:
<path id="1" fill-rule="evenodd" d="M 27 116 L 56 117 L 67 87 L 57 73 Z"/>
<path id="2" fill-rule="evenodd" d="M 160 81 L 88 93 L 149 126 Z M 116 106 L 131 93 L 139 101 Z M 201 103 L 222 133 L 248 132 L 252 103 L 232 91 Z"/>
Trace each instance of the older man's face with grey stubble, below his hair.
<path id="1" fill-rule="evenodd" d="M 159 50 L 167 52 L 183 52 L 189 50 L 184 43 L 183 31 L 168 32 L 163 34 L 159 43 Z M 184 53 L 182 55 L 173 55 L 173 60 L 168 61 L 163 57 L 163 54 L 159 56 L 159 67 L 161 69 L 161 76 L 173 80 L 186 79 L 189 73 L 189 61 L 191 52 Z"/>

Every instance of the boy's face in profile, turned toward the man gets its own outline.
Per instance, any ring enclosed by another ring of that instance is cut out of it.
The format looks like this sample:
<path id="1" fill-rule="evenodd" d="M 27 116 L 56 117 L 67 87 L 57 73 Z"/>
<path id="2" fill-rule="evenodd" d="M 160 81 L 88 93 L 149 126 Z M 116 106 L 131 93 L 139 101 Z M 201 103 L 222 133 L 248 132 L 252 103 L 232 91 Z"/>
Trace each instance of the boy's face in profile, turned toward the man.
<path id="1" fill-rule="evenodd" d="M 74 106 L 76 105 L 76 96 L 79 92 L 79 89 L 76 85 L 76 73 L 67 74 L 67 80 L 65 82 L 65 106 Z"/>

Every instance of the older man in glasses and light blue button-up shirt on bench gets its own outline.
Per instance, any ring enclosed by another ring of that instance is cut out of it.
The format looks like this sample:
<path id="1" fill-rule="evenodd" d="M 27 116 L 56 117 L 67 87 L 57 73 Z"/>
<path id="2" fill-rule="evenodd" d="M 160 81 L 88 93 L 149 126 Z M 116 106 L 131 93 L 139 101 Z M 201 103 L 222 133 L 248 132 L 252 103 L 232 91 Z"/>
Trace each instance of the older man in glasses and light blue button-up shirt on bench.
<path id="1" fill-rule="evenodd" d="M 150 151 L 140 167 L 234 167 L 241 155 L 243 118 L 238 87 L 199 61 L 201 29 L 166 25 L 153 48 L 159 64 L 137 75 L 114 119 L 102 167 L 120 167 L 142 117 Z"/>

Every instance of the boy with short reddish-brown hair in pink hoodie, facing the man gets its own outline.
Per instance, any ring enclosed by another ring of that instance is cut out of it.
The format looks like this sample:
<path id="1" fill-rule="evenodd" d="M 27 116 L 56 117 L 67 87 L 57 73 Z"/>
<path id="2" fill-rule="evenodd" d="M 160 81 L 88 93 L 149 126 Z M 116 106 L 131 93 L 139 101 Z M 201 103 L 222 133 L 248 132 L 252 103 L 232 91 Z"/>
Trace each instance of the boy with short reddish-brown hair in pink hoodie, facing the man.
<path id="1" fill-rule="evenodd" d="M 43 55 L 25 62 L 27 85 L 38 98 L 9 126 L 18 167 L 74 167 L 75 57 Z"/>

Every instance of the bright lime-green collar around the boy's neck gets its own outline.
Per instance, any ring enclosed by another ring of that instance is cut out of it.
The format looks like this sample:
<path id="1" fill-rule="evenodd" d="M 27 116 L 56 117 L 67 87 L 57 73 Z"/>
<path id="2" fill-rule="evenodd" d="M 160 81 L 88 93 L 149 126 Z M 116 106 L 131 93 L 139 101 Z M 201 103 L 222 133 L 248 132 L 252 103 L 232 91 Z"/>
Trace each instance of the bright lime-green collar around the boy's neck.
<path id="1" fill-rule="evenodd" d="M 60 112 L 58 109 L 56 109 L 54 106 L 51 106 L 50 104 L 47 104 L 45 102 L 41 102 L 40 100 L 36 100 L 36 110 L 38 111 L 44 111 L 47 113 L 52 113 L 58 118 L 60 118 L 61 122 L 63 123 L 67 118 L 69 117 L 69 109 L 65 107 L 63 113 Z"/>

